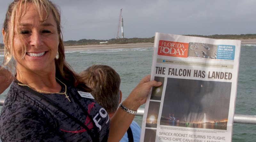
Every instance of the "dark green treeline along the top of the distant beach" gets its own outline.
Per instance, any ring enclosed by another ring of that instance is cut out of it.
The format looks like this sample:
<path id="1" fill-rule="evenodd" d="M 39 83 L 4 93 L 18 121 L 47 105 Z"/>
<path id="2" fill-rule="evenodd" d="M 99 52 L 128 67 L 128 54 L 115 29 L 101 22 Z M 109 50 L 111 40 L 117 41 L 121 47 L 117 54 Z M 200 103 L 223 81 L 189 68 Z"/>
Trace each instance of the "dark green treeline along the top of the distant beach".
<path id="1" fill-rule="evenodd" d="M 206 37 L 212 39 L 256 39 L 256 34 L 214 34 L 214 35 L 195 35 L 190 34 L 187 36 Z M 104 44 L 126 44 L 126 43 L 140 43 L 140 42 L 151 42 L 154 43 L 155 36 L 151 38 L 118 38 L 110 40 L 87 40 L 82 39 L 79 41 L 64 41 L 64 45 L 92 45 L 100 44 L 100 42 L 106 42 Z"/>

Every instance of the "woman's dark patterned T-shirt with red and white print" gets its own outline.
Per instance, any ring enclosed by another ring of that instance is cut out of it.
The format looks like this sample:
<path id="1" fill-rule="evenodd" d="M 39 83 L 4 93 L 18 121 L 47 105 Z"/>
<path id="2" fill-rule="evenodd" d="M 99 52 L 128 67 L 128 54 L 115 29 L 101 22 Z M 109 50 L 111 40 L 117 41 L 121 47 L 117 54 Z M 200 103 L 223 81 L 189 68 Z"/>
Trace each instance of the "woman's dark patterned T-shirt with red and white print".
<path id="1" fill-rule="evenodd" d="M 40 93 L 40 95 L 46 96 L 79 119 L 91 132 L 87 132 L 84 127 L 62 111 L 14 81 L 6 96 L 0 116 L 1 140 L 3 142 L 107 141 L 110 120 L 106 110 L 93 99 L 81 97 L 77 93 L 80 90 L 67 87 L 67 95 L 71 102 L 63 94 Z M 65 92 L 63 86 L 61 92 Z M 87 112 L 81 109 L 81 105 Z"/>

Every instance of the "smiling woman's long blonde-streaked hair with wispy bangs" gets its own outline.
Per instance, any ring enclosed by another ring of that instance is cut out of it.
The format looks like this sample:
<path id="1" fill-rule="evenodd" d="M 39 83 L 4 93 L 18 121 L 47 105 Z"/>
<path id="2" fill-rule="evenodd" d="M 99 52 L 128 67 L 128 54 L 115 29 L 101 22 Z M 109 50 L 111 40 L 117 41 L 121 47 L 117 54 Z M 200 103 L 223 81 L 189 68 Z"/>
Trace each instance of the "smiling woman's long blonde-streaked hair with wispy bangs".
<path id="1" fill-rule="evenodd" d="M 54 20 L 57 24 L 57 30 L 59 34 L 59 59 L 55 59 L 55 66 L 56 66 L 56 77 L 64 78 L 67 82 L 73 82 L 72 86 L 76 86 L 78 84 L 77 81 L 77 74 L 72 70 L 72 68 L 66 63 L 65 61 L 65 52 L 64 52 L 64 45 L 62 40 L 61 34 L 61 26 L 60 26 L 60 10 L 57 8 L 55 4 L 53 4 L 49 0 L 14 0 L 8 7 L 8 10 L 5 15 L 3 30 L 4 30 L 4 55 L 7 53 L 10 55 L 10 59 L 4 59 L 4 65 L 8 67 L 9 70 L 12 70 L 12 66 L 15 67 L 15 61 L 11 60 L 13 57 L 13 38 L 15 33 L 19 33 L 19 22 L 22 14 L 26 13 L 27 4 L 33 4 L 41 21 L 45 21 L 50 14 L 53 15 Z M 43 17 L 43 11 L 46 12 L 47 16 Z M 20 39 L 21 43 L 23 44 L 22 47 L 22 54 L 23 58 L 26 55 L 26 48 L 25 42 L 19 34 L 18 38 Z"/>

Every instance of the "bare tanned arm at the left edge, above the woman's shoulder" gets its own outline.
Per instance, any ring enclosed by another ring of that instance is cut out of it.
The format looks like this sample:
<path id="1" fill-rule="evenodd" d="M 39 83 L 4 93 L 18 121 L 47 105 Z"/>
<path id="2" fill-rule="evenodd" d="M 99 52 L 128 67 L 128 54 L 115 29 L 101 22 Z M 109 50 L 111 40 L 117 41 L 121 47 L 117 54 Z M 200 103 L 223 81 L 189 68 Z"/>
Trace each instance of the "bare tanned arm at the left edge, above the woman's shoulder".
<path id="1" fill-rule="evenodd" d="M 0 66 L 0 94 L 4 92 L 6 88 L 12 83 L 12 73 Z"/>

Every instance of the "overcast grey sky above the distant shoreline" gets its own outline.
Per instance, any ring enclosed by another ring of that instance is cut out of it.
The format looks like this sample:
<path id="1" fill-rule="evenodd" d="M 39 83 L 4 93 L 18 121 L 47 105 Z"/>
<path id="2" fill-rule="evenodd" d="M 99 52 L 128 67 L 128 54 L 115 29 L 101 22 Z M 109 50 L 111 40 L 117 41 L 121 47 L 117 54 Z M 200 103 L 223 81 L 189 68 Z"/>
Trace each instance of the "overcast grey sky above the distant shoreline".
<path id="1" fill-rule="evenodd" d="M 12 0 L 1 0 L 0 24 Z M 52 0 L 61 9 L 64 41 L 167 34 L 256 34 L 256 0 Z M 121 37 L 121 26 L 119 30 Z"/>

